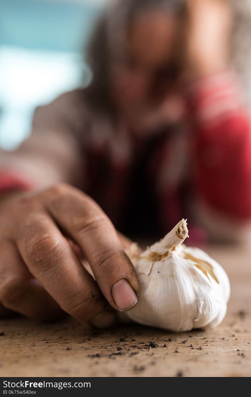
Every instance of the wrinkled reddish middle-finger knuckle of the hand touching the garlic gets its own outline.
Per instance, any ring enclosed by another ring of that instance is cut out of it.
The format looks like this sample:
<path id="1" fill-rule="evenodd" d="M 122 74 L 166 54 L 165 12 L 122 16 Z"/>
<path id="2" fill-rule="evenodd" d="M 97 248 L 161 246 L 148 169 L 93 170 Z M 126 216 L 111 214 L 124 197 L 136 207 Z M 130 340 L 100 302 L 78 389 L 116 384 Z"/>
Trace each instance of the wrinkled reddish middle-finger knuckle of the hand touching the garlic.
<path id="1" fill-rule="evenodd" d="M 64 252 L 63 241 L 49 232 L 38 233 L 26 245 L 27 258 L 38 267 L 56 264 Z"/>

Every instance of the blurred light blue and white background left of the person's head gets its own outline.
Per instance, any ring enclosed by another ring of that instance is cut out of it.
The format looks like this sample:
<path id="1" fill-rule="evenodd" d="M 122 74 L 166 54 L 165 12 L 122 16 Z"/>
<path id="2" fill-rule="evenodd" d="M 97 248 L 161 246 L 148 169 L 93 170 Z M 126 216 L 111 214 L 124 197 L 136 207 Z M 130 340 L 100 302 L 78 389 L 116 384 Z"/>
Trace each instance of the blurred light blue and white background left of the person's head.
<path id="1" fill-rule="evenodd" d="M 104 2 L 105 3 L 105 2 Z M 17 146 L 37 104 L 80 84 L 90 72 L 82 49 L 101 2 L 0 0 L 0 146 Z"/>

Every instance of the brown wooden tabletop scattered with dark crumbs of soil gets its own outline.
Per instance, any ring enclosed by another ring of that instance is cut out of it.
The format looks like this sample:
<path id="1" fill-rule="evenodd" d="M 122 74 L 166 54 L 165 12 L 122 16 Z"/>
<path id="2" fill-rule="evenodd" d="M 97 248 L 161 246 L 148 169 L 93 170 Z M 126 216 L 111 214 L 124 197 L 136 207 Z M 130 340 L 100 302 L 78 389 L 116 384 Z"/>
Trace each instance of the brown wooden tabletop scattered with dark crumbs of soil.
<path id="1" fill-rule="evenodd" d="M 251 376 L 251 249 L 207 252 L 226 269 L 232 287 L 227 316 L 215 330 L 123 326 L 91 335 L 72 319 L 42 325 L 5 319 L 0 376 Z M 158 347 L 145 348 L 149 341 Z"/>

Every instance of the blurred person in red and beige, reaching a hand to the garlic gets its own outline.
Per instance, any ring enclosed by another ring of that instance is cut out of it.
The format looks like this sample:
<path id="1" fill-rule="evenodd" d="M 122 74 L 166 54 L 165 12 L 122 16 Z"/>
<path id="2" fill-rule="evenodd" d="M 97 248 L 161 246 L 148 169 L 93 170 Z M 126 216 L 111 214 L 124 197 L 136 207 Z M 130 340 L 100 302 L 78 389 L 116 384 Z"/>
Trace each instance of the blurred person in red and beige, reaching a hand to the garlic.
<path id="1" fill-rule="evenodd" d="M 112 308 L 139 298 L 115 227 L 160 237 L 185 217 L 198 241 L 249 225 L 250 118 L 230 67 L 233 29 L 226 0 L 107 8 L 89 43 L 89 87 L 38 107 L 29 139 L 1 152 L 2 314 L 64 310 L 109 326 Z"/>

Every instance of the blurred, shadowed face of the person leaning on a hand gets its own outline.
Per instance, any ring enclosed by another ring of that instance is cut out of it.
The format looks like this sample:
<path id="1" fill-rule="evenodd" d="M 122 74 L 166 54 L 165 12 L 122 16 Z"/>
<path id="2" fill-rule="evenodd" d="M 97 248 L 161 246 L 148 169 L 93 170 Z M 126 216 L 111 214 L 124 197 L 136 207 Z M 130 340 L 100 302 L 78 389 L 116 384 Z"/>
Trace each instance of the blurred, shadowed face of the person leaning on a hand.
<path id="1" fill-rule="evenodd" d="M 120 114 L 133 121 L 172 96 L 179 77 L 179 22 L 170 14 L 138 15 L 128 32 L 123 61 L 112 65 L 112 100 Z"/>

